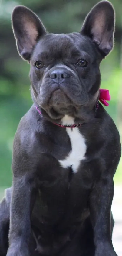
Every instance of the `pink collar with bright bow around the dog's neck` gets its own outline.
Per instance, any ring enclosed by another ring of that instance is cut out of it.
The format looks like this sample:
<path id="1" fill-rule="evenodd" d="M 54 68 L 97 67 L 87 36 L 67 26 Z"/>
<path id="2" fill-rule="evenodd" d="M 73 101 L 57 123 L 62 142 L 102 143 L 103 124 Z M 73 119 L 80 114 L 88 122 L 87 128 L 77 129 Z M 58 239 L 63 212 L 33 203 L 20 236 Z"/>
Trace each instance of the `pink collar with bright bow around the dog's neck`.
<path id="1" fill-rule="evenodd" d="M 99 96 L 99 101 L 104 105 L 104 106 L 109 106 L 109 103 L 107 101 L 110 101 L 110 94 L 109 94 L 109 90 L 106 89 L 100 89 L 100 96 Z M 99 107 L 99 103 L 97 102 L 96 104 L 96 111 Z M 38 109 L 38 107 L 36 106 L 36 109 L 38 111 L 39 114 L 41 114 L 41 111 Z M 53 123 L 56 124 L 56 123 Z M 74 128 L 74 127 L 78 127 L 81 126 L 82 124 L 73 124 L 73 125 L 62 125 L 62 124 L 56 124 L 60 127 L 63 128 Z"/>

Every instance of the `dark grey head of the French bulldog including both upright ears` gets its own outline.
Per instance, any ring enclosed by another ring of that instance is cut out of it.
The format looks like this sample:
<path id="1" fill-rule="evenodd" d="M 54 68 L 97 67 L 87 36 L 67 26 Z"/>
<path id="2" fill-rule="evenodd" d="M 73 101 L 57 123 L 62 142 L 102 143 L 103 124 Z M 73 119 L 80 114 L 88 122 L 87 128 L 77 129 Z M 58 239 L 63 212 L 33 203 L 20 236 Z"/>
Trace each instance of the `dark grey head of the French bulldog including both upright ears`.
<path id="1" fill-rule="evenodd" d="M 101 60 L 112 50 L 114 9 L 99 2 L 80 33 L 49 34 L 24 6 L 15 7 L 12 25 L 18 52 L 31 65 L 31 94 L 52 120 L 85 116 L 99 97 Z"/>

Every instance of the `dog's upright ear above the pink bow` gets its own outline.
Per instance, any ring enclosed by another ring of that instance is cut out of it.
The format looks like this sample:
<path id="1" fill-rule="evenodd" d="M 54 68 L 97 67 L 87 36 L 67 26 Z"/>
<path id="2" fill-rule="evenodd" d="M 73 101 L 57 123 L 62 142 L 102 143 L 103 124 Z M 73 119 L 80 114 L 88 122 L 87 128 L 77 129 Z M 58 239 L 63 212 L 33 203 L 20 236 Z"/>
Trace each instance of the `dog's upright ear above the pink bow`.
<path id="1" fill-rule="evenodd" d="M 101 1 L 88 13 L 81 28 L 81 34 L 88 36 L 97 45 L 103 57 L 114 44 L 114 8 L 108 1 Z"/>

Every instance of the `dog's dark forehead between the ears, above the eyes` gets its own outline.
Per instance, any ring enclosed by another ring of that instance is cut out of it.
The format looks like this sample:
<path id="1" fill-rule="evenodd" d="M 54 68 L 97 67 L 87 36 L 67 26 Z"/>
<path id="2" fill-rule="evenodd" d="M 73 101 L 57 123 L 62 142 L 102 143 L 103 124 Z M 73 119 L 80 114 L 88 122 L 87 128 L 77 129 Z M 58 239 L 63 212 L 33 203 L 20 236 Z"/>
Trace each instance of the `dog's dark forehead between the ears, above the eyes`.
<path id="1" fill-rule="evenodd" d="M 81 36 L 80 33 L 73 34 L 47 34 L 41 38 L 31 56 L 32 61 L 41 58 L 48 62 L 54 60 L 84 58 L 92 62 L 95 58 L 91 40 Z"/>

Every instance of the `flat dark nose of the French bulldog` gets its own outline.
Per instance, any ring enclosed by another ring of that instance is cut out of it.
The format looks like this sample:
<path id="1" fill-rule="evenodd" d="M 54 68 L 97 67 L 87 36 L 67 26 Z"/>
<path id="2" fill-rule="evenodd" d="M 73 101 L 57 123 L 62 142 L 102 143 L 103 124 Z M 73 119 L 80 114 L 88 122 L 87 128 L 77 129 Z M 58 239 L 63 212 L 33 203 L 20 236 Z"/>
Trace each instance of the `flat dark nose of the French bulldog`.
<path id="1" fill-rule="evenodd" d="M 50 78 L 57 84 L 63 83 L 64 80 L 69 77 L 68 72 L 62 69 L 53 70 L 50 74 Z"/>

